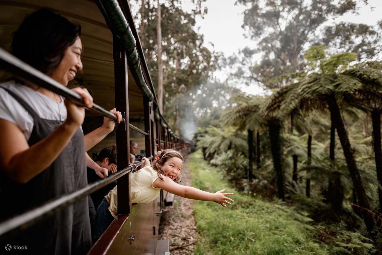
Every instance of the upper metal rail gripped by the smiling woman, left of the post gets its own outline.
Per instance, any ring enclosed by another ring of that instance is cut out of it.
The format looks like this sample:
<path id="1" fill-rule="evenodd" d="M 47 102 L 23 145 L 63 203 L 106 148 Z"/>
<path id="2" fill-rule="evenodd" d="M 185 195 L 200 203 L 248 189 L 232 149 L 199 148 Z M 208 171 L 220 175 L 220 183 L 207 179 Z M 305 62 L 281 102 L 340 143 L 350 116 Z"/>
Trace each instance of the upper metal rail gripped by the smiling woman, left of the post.
<path id="1" fill-rule="evenodd" d="M 58 83 L 57 81 L 43 74 L 42 72 L 35 69 L 34 67 L 31 67 L 30 65 L 21 61 L 17 57 L 13 56 L 9 52 L 2 49 L 1 47 L 0 47 L 0 67 L 4 70 L 7 70 L 8 72 L 11 72 L 14 75 L 17 75 L 18 77 L 21 77 L 25 80 L 28 80 L 29 82 L 36 84 L 39 87 L 43 87 L 48 90 L 51 90 L 65 97 L 66 99 L 72 101 L 73 103 L 76 103 L 81 106 L 85 106 L 83 98 L 80 95 L 73 92 L 69 88 L 66 88 L 62 84 Z M 92 108 L 86 107 L 86 109 L 93 111 L 95 113 L 99 113 L 109 119 L 112 119 L 113 121 L 117 121 L 117 116 L 105 110 L 101 106 L 96 105 L 95 103 L 93 103 Z"/>

